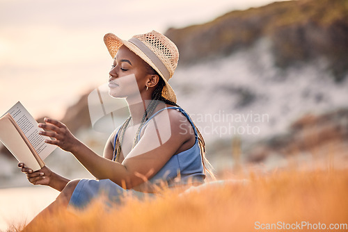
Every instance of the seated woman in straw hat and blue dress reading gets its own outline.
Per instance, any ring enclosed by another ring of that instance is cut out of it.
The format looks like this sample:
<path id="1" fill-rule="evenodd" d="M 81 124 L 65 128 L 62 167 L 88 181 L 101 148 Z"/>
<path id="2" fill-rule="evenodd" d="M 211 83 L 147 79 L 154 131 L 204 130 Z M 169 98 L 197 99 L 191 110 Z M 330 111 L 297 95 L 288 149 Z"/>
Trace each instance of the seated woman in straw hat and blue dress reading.
<path id="1" fill-rule="evenodd" d="M 83 208 L 100 190 L 117 202 L 125 192 L 140 198 L 155 193 L 158 184 L 200 185 L 209 172 L 204 140 L 189 115 L 176 105 L 168 84 L 179 57 L 175 44 L 156 31 L 128 41 L 109 33 L 104 42 L 113 58 L 109 94 L 126 99 L 130 117 L 111 134 L 103 157 L 74 138 L 61 122 L 46 118 L 45 124 L 39 124 L 45 129 L 42 135 L 54 138 L 47 143 L 70 151 L 97 180 L 70 181 L 48 167 L 33 172 L 19 163 L 31 183 L 61 191 L 37 217 L 62 206 Z"/>

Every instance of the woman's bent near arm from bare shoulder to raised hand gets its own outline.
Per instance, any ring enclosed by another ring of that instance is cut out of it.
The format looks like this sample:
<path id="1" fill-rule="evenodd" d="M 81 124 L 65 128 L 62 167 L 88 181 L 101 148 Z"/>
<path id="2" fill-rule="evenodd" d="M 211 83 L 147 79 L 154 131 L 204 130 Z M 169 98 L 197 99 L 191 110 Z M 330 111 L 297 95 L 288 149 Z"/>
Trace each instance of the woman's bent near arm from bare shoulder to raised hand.
<path id="1" fill-rule="evenodd" d="M 150 179 L 155 175 L 192 135 L 187 133 L 187 130 L 183 131 L 181 124 L 184 123 L 182 121 L 184 116 L 180 112 L 167 111 L 168 114 L 160 113 L 152 119 L 152 124 L 146 127 L 141 140 L 122 163 L 95 154 L 74 138 L 61 122 L 45 119 L 47 124 L 40 124 L 40 127 L 50 130 L 43 131 L 42 135 L 56 139 L 47 140 L 47 143 L 56 144 L 65 151 L 70 151 L 97 179 L 111 179 L 118 185 L 125 184 L 126 188 L 132 188 L 143 183 L 143 177 Z"/>

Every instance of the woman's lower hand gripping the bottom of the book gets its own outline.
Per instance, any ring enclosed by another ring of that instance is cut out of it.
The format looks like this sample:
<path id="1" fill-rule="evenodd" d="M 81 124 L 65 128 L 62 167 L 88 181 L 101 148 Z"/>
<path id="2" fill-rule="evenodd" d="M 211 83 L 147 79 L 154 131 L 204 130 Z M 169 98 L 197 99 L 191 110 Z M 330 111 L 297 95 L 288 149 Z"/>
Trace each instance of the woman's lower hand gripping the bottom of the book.
<path id="1" fill-rule="evenodd" d="M 48 167 L 44 166 L 36 172 L 25 167 L 24 163 L 18 163 L 18 167 L 22 168 L 22 172 L 26 174 L 26 178 L 33 185 L 50 185 L 52 182 L 53 172 Z"/>

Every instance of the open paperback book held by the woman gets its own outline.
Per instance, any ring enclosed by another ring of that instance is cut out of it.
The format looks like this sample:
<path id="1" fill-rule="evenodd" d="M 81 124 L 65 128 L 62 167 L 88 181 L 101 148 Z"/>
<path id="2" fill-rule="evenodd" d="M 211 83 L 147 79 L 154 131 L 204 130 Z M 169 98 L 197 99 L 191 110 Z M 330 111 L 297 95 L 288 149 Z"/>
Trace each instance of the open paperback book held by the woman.
<path id="1" fill-rule="evenodd" d="M 47 137 L 39 135 L 42 131 L 38 122 L 19 101 L 0 117 L 0 140 L 5 147 L 22 162 L 36 171 L 42 168 L 43 160 L 56 149 L 45 142 Z"/>

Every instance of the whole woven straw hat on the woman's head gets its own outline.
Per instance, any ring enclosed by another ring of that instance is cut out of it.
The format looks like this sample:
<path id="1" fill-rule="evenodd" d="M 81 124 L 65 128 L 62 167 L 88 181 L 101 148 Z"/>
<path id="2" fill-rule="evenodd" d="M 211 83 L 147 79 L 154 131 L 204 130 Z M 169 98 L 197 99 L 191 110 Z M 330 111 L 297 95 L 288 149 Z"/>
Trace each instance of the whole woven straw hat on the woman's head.
<path id="1" fill-rule="evenodd" d="M 125 45 L 129 50 L 140 56 L 163 78 L 166 85 L 162 90 L 162 97 L 176 103 L 176 95 L 168 80 L 173 76 L 179 60 L 179 51 L 171 40 L 157 31 L 134 35 L 131 39 L 121 40 L 113 33 L 104 36 L 106 47 L 114 58 L 118 49 Z"/>

